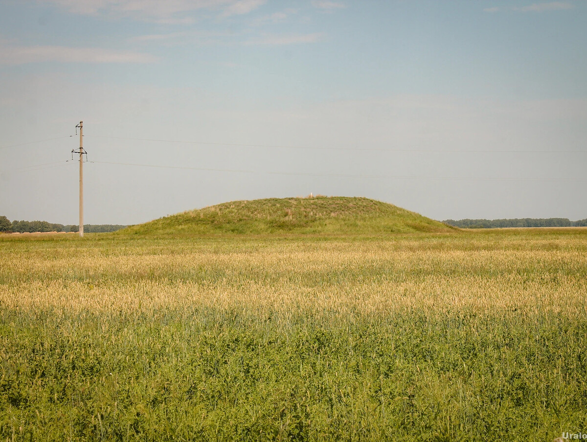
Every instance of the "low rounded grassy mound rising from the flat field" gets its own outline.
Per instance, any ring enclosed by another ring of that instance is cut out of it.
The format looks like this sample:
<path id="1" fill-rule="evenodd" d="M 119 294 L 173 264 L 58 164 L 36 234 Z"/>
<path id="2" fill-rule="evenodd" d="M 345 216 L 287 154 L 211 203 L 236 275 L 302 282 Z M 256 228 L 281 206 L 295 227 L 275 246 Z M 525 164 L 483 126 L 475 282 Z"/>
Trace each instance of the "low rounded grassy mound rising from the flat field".
<path id="1" fill-rule="evenodd" d="M 156 235 L 448 232 L 452 227 L 359 197 L 269 198 L 189 210 L 121 230 Z"/>

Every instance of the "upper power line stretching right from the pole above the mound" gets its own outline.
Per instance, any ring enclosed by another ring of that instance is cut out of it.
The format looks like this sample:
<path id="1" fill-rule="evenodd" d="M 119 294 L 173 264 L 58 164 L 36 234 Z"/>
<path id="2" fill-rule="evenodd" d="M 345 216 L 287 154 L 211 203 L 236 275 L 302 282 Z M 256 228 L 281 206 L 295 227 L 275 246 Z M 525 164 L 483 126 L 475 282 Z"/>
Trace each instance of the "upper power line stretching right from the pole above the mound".
<path id="1" fill-rule="evenodd" d="M 587 153 L 583 150 L 466 150 L 466 149 L 380 149 L 380 148 L 328 148 L 320 146 L 282 146 L 282 145 L 261 145 L 261 144 L 244 144 L 244 143 L 217 143 L 204 141 L 182 141 L 182 140 L 164 140 L 153 138 L 129 138 L 122 136 L 104 136 L 104 135 L 86 135 L 95 138 L 109 138 L 115 140 L 132 140 L 132 141 L 153 141 L 160 143 L 177 143 L 177 144 L 195 144 L 210 146 L 231 146 L 241 148 L 268 148 L 268 149 L 309 149 L 309 150 L 355 150 L 355 151 L 374 151 L 374 152 L 438 152 L 438 153 Z"/>

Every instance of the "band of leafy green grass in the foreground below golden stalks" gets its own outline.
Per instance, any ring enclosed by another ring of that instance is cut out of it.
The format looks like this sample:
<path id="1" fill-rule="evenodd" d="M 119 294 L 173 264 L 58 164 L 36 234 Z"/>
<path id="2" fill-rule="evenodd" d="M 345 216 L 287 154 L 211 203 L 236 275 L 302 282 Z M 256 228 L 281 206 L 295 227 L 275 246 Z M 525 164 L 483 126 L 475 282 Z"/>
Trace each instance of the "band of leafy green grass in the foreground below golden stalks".
<path id="1" fill-rule="evenodd" d="M 552 440 L 587 423 L 582 320 L 6 316 L 8 440 Z"/>

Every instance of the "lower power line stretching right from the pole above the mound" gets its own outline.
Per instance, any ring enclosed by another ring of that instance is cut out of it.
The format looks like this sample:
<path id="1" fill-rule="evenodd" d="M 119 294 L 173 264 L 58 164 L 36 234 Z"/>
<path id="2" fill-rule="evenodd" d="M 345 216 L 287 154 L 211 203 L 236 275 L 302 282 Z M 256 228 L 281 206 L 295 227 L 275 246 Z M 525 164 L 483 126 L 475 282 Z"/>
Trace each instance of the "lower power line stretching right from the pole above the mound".
<path id="1" fill-rule="evenodd" d="M 408 179 L 408 180 L 451 180 L 451 181 L 521 181 L 521 182 L 587 182 L 584 179 L 556 179 L 556 178 L 485 178 L 485 177 L 449 177 L 449 176 L 408 176 L 408 175 L 352 175 L 346 173 L 312 173 L 312 172 L 269 172 L 244 169 L 214 169 L 214 168 L 191 168 L 187 166 L 161 166 L 138 163 L 117 163 L 110 161 L 90 161 L 90 163 L 139 166 L 144 168 L 158 169 L 184 169 L 184 170 L 205 170 L 211 172 L 236 172 L 236 173 L 265 173 L 266 175 L 295 175 L 295 176 L 324 176 L 330 178 L 387 178 L 387 179 Z"/>

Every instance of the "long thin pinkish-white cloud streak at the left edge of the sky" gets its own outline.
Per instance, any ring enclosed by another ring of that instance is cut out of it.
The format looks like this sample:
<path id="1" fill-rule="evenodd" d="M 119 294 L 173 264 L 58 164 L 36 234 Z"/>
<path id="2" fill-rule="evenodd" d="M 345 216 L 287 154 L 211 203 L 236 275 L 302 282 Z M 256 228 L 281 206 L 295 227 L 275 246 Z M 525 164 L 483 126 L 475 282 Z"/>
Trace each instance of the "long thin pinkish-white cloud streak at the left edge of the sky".
<path id="1" fill-rule="evenodd" d="M 68 48 L 66 46 L 14 46 L 0 43 L 0 64 L 26 63 L 154 63 L 154 55 L 102 48 Z"/>

